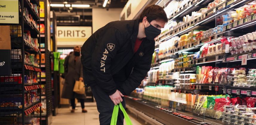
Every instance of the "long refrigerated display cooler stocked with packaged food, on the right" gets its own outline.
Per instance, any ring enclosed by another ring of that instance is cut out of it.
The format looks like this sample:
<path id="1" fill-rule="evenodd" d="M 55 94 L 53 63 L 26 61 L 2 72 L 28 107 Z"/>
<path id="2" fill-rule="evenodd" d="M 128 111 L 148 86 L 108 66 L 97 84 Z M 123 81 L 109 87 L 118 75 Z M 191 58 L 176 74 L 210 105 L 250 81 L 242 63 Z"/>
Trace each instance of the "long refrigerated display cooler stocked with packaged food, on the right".
<path id="1" fill-rule="evenodd" d="M 156 4 L 169 21 L 127 109 L 152 124 L 256 124 L 256 1 Z"/>

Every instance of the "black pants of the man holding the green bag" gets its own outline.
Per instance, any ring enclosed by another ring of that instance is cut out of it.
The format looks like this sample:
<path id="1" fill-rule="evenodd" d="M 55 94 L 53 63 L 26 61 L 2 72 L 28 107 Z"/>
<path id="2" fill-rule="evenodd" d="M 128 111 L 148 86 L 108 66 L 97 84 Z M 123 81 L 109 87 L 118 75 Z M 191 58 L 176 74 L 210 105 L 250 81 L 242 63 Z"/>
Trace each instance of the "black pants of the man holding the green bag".
<path id="1" fill-rule="evenodd" d="M 96 104 L 97 104 L 97 109 L 98 112 L 100 113 L 99 115 L 99 120 L 100 120 L 100 125 L 110 125 L 111 123 L 111 116 L 113 113 L 114 109 L 114 103 L 111 101 L 109 95 L 107 95 L 106 92 L 104 92 L 100 87 L 97 85 L 92 86 L 92 94 L 95 98 Z M 125 100 L 124 97 L 122 105 L 125 109 Z M 118 117 L 117 117 L 117 125 L 123 125 L 124 124 L 124 114 L 119 108 L 118 111 Z"/>

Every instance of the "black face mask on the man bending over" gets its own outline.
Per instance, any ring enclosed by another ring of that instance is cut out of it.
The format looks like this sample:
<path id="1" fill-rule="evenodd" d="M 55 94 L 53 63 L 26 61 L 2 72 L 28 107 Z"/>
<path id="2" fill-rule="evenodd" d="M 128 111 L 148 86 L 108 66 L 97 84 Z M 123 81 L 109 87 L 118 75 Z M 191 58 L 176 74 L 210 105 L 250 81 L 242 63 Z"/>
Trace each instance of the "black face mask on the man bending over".
<path id="1" fill-rule="evenodd" d="M 158 35 L 161 34 L 161 30 L 159 30 L 158 28 L 150 24 L 148 27 L 145 27 L 145 34 L 147 39 L 153 40 L 154 38 L 156 38 Z"/>

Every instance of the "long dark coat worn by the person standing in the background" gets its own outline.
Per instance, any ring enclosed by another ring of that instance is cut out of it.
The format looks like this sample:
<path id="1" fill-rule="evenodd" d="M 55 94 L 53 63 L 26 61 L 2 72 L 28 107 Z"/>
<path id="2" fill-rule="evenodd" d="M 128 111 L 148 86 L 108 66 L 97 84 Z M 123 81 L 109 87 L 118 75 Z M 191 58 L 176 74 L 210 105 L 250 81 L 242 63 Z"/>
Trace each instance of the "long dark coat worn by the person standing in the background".
<path id="1" fill-rule="evenodd" d="M 67 58 L 68 60 L 66 60 Z M 86 99 L 85 94 L 81 95 L 73 92 L 75 81 L 79 81 L 79 78 L 83 77 L 81 56 L 77 58 L 76 62 L 74 61 L 74 59 L 75 59 L 74 53 L 68 55 L 65 58 L 64 66 L 67 68 L 67 70 L 65 70 L 65 82 L 64 82 L 61 98 Z"/>

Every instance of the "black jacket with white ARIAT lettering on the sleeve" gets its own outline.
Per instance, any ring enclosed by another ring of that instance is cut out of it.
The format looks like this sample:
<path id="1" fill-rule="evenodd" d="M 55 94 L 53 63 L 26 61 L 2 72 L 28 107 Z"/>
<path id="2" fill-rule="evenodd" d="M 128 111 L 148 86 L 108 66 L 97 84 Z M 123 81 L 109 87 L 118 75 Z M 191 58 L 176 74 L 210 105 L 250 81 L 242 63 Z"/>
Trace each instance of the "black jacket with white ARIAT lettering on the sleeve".
<path id="1" fill-rule="evenodd" d="M 97 30 L 81 48 L 84 83 L 100 86 L 108 95 L 118 89 L 129 95 L 150 70 L 155 41 L 144 38 L 133 52 L 139 21 L 113 21 Z"/>

